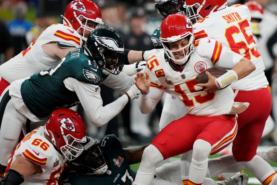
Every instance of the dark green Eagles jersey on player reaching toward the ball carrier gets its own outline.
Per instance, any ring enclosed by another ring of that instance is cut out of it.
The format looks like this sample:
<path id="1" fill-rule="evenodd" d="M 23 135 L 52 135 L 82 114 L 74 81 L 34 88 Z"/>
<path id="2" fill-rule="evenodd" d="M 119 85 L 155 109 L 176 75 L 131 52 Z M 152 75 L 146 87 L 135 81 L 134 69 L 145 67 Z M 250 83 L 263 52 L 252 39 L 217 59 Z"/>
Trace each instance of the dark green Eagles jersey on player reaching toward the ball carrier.
<path id="1" fill-rule="evenodd" d="M 55 67 L 35 73 L 22 83 L 21 95 L 27 108 L 35 116 L 44 118 L 57 108 L 80 103 L 76 93 L 63 84 L 68 77 L 100 85 L 108 75 L 84 54 L 84 48 L 70 51 Z"/>

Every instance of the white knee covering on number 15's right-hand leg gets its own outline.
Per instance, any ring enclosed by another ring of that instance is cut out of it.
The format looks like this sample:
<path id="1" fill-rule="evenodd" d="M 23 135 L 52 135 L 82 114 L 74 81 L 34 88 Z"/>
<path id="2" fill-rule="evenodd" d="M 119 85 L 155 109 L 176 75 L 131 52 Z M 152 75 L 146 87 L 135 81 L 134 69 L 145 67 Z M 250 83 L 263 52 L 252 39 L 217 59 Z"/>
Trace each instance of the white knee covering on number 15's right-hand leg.
<path id="1" fill-rule="evenodd" d="M 197 161 L 203 161 L 207 159 L 212 151 L 212 145 L 203 140 L 197 139 L 193 144 L 192 158 Z"/>

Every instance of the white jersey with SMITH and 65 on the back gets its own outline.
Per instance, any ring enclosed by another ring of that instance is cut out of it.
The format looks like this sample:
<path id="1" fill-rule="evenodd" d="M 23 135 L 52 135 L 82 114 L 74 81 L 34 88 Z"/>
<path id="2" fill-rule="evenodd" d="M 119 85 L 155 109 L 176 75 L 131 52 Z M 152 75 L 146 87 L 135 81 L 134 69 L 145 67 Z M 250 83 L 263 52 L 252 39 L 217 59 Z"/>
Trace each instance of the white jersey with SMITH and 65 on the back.
<path id="1" fill-rule="evenodd" d="M 205 37 L 215 39 L 226 49 L 241 54 L 255 64 L 255 71 L 231 84 L 233 89 L 255 90 L 266 88 L 268 85 L 263 72 L 265 69 L 263 59 L 252 36 L 250 19 L 248 8 L 236 4 L 214 12 L 193 25 L 196 39 Z"/>

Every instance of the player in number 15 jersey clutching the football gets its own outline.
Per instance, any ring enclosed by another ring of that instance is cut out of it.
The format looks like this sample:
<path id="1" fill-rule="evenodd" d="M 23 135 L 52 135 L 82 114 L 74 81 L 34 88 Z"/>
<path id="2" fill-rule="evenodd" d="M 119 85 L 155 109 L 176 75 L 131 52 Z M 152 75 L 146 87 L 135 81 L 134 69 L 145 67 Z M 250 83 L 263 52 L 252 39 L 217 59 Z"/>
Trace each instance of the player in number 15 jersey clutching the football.
<path id="1" fill-rule="evenodd" d="M 164 51 L 148 59 L 146 77 L 143 72 L 135 77 L 141 91 L 139 108 L 143 114 L 152 111 L 167 92 L 184 102 L 188 114 L 163 128 L 145 148 L 133 185 L 151 184 L 158 162 L 192 149 L 188 180 L 203 184 L 208 156 L 232 142 L 237 132 L 234 114 L 248 106 L 234 102 L 228 85 L 249 75 L 255 66 L 216 40 L 194 42 L 192 22 L 183 14 L 162 21 L 160 40 Z M 214 66 L 230 70 L 218 78 L 206 72 L 209 81 L 197 84 L 196 75 Z"/>

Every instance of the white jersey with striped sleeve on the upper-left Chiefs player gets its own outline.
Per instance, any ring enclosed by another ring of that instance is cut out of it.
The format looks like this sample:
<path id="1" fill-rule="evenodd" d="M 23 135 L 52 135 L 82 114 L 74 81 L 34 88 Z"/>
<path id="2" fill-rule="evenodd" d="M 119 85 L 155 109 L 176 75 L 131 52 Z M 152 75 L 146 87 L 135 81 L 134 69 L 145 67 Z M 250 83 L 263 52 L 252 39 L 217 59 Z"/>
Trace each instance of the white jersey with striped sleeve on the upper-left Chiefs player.
<path id="1" fill-rule="evenodd" d="M 45 69 L 55 66 L 61 59 L 47 55 L 42 46 L 49 42 L 61 42 L 79 48 L 83 41 L 72 27 L 64 24 L 53 24 L 24 51 L 0 66 L 0 76 L 7 82 L 26 78 Z"/>

